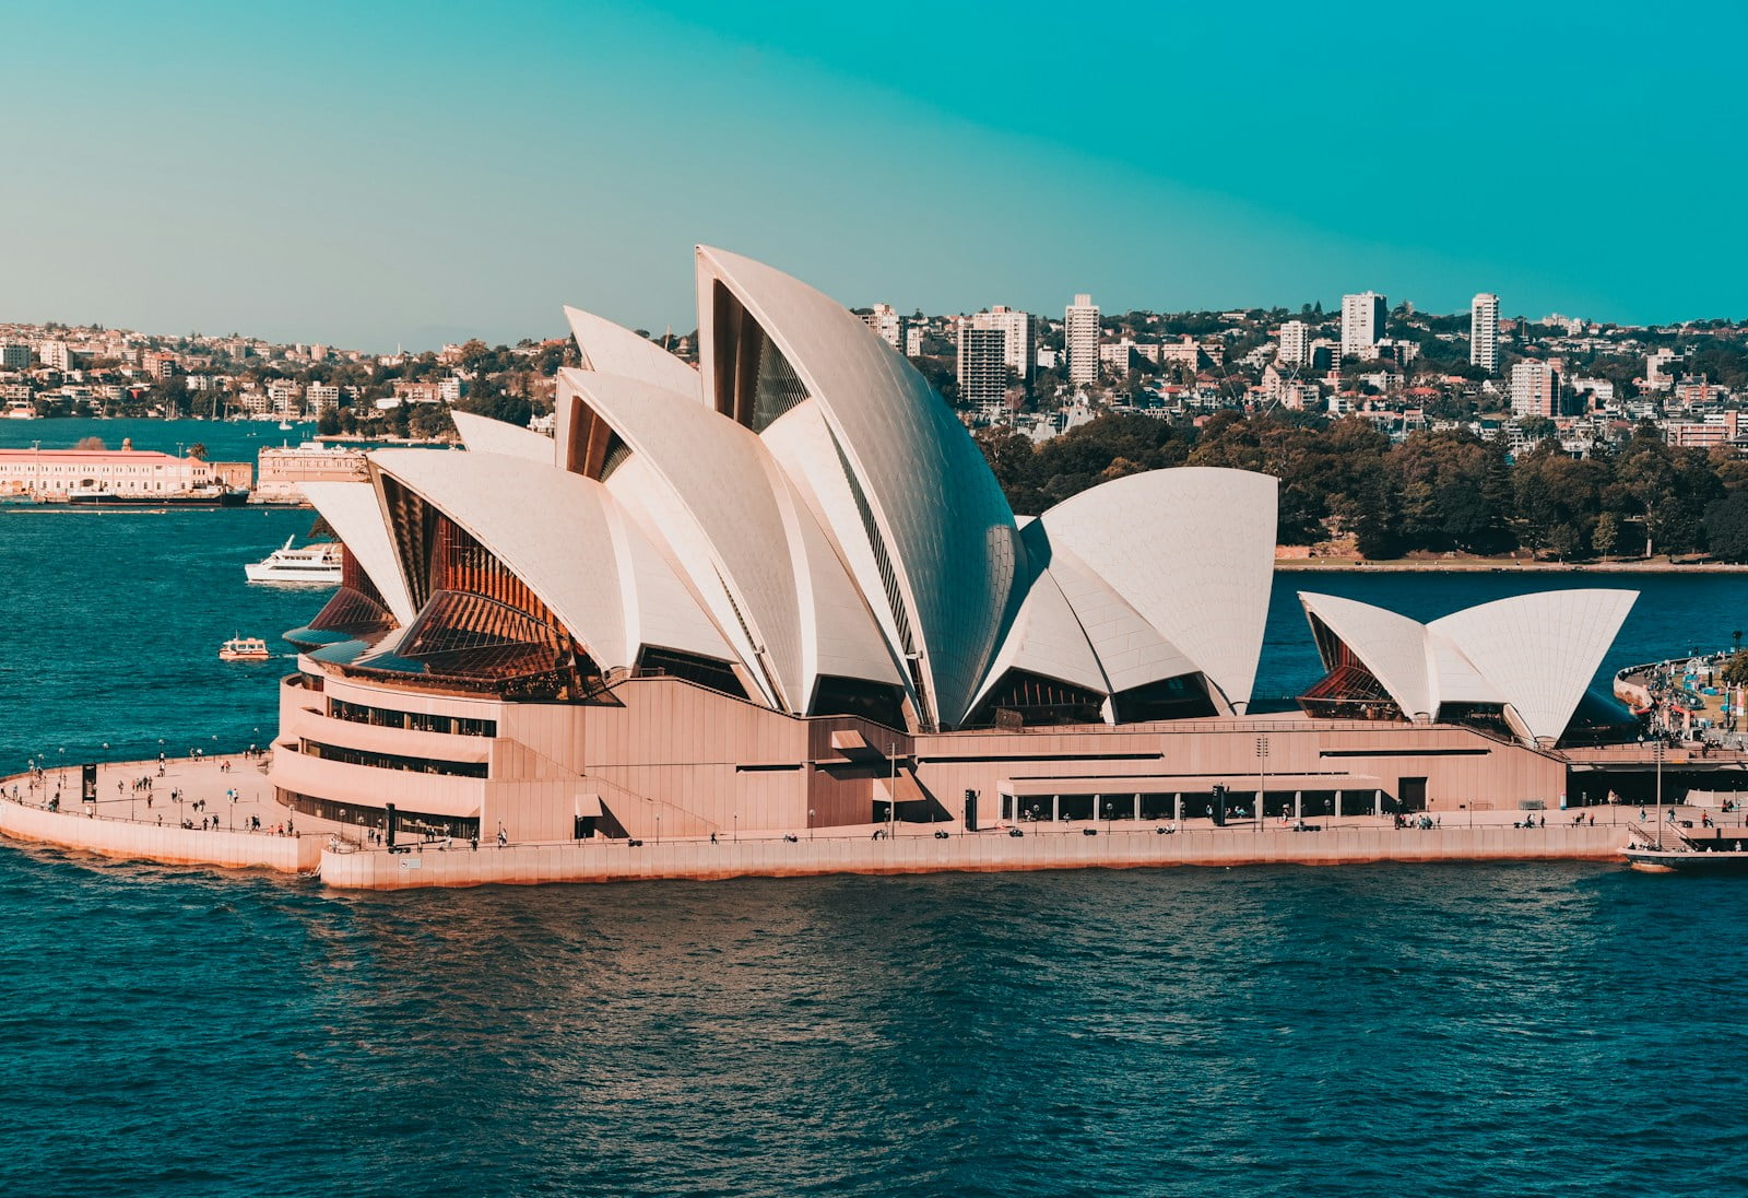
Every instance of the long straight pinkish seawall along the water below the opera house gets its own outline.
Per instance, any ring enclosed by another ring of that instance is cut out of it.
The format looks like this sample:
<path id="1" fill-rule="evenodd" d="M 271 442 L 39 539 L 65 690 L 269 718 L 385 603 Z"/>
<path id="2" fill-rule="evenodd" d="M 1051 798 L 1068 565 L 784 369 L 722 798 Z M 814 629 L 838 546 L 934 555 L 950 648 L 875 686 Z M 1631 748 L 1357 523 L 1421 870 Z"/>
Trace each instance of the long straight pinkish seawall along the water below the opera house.
<path id="1" fill-rule="evenodd" d="M 1145 866 L 1337 866 L 1370 860 L 1620 860 L 1619 827 L 1475 827 L 1440 831 L 1332 829 L 1327 832 L 1194 831 L 1115 834 L 900 836 L 897 839 L 624 841 L 477 852 L 323 852 L 330 887 L 400 890 L 489 883 L 629 881 L 642 878 L 785 878 L 829 873 L 944 873 L 1003 869 L 1129 869 Z"/>

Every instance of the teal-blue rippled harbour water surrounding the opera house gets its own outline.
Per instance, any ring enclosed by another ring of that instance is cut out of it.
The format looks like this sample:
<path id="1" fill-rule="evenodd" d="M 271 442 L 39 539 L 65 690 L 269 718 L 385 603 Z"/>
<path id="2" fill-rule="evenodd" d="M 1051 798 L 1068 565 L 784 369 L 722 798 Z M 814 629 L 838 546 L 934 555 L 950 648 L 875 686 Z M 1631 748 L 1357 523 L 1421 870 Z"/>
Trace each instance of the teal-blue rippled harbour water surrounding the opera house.
<path id="1" fill-rule="evenodd" d="M 122 425 L 0 444 L 281 435 Z M 241 572 L 309 521 L 0 507 L 0 770 L 266 736 L 290 663 L 215 652 L 320 605 Z M 1287 574 L 1259 693 L 1316 677 L 1295 589 L 1584 584 L 1643 593 L 1605 668 L 1748 612 L 1741 575 Z M 1745 895 L 1589 864 L 355 895 L 0 845 L 0 1193 L 1741 1195 Z"/>

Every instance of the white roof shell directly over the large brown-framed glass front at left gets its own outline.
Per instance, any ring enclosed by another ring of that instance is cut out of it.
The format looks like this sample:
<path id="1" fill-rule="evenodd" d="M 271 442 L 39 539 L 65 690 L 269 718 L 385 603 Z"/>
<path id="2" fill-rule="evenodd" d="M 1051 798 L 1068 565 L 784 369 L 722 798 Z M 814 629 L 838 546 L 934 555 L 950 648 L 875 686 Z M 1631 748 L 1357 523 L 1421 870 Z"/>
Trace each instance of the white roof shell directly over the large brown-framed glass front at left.
<path id="1" fill-rule="evenodd" d="M 496 453 L 378 449 L 371 462 L 486 546 L 603 670 L 635 665 L 643 645 L 732 659 L 600 483 Z"/>

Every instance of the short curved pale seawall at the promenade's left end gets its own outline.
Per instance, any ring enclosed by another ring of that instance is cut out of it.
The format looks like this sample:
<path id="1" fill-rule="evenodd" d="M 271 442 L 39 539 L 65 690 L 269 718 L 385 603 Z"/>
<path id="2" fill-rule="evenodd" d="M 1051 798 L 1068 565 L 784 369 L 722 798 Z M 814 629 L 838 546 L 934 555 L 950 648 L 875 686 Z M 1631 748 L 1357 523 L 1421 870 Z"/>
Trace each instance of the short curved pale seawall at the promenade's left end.
<path id="1" fill-rule="evenodd" d="M 327 841 L 325 836 L 205 832 L 194 827 L 91 818 L 79 810 L 47 811 L 10 799 L 0 801 L 0 834 L 100 857 L 280 873 L 313 871 L 322 860 L 322 846 Z"/>

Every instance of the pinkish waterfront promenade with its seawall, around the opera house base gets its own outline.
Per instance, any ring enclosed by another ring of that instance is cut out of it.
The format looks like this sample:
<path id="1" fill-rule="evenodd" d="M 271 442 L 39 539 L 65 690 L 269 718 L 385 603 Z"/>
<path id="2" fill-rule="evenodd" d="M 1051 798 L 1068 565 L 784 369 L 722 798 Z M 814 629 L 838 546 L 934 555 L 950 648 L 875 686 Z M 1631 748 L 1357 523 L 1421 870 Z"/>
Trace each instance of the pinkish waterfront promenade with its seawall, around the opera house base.
<path id="1" fill-rule="evenodd" d="M 229 766 L 229 768 L 225 768 Z M 1582 811 L 1481 810 L 1451 813 L 1419 827 L 1393 817 L 1308 820 L 1295 831 L 1278 820 L 1255 827 L 1208 820 L 1182 825 L 1098 820 L 1000 825 L 967 832 L 953 824 L 877 824 L 792 829 L 759 838 L 565 841 L 505 845 L 402 843 L 399 852 L 367 845 L 362 829 L 297 815 L 273 799 L 262 763 L 246 756 L 115 763 L 98 770 L 98 801 L 79 801 L 79 768 L 0 780 L 0 834 L 114 859 L 203 864 L 318 874 L 343 888 L 533 885 L 656 878 L 752 878 L 830 873 L 904 874 L 1024 869 L 1129 869 L 1164 866 L 1337 866 L 1400 860 L 1620 860 L 1629 825 L 1647 827 L 1638 806 Z M 136 791 L 150 778 L 150 791 Z M 14 789 L 17 798 L 14 799 Z M 59 792 L 59 810 L 49 810 Z M 180 801 L 171 798 L 180 796 Z M 234 798 L 232 798 L 234 792 Z M 150 799 L 150 801 L 149 801 Z M 1701 822 L 1697 808 L 1666 808 Z M 1731 825 L 1743 815 L 1724 817 Z M 203 827 L 201 822 L 206 822 Z M 255 822 L 259 820 L 259 831 Z M 1545 822 L 1543 822 L 1545 820 Z M 1592 822 L 1594 820 L 1594 822 Z M 1533 825 L 1531 825 L 1533 824 Z M 1014 831 L 1019 834 L 1016 836 Z"/>

